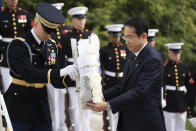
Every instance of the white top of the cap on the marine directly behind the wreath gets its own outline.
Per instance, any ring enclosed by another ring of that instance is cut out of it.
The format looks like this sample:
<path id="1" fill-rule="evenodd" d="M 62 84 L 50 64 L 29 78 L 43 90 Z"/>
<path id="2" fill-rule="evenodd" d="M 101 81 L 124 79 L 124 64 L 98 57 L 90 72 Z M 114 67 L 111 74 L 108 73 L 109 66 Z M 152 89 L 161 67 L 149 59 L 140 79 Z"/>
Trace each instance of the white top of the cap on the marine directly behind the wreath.
<path id="1" fill-rule="evenodd" d="M 85 15 L 87 11 L 88 11 L 87 7 L 80 6 L 80 7 L 74 7 L 74 8 L 69 9 L 67 13 L 71 16 Z"/>

